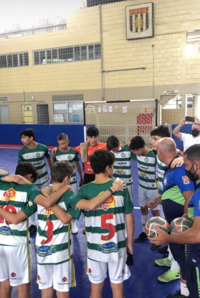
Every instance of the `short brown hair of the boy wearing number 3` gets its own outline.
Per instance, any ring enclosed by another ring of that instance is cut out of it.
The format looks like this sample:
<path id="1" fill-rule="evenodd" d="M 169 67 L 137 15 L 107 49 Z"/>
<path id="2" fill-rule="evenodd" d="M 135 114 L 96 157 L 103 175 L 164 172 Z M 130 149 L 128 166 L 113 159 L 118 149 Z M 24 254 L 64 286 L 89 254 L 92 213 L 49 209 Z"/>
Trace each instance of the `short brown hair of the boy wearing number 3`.
<path id="1" fill-rule="evenodd" d="M 74 167 L 67 160 L 54 162 L 51 167 L 51 179 L 53 182 L 62 183 L 66 176 L 70 178 L 73 173 Z"/>

